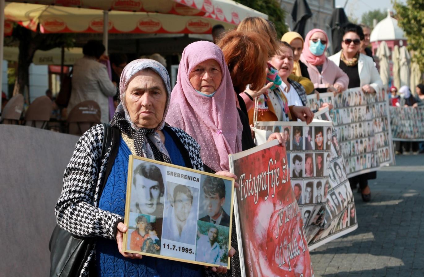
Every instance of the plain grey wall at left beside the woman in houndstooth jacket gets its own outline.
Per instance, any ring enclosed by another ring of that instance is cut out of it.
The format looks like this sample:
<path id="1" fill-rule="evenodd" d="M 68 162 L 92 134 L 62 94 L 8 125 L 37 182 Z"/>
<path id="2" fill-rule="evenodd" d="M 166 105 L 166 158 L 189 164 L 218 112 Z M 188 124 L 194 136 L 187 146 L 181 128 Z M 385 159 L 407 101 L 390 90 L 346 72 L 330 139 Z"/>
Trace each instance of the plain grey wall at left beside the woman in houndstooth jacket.
<path id="1" fill-rule="evenodd" d="M 54 206 L 78 137 L 0 125 L 0 276 L 49 276 Z"/>

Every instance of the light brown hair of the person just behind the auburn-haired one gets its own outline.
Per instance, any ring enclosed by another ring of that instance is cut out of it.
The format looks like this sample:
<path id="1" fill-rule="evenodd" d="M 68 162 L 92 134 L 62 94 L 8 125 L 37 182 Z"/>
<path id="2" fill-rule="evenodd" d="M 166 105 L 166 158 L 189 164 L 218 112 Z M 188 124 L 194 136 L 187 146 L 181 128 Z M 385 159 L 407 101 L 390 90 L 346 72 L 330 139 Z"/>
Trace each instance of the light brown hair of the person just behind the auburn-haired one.
<path id="1" fill-rule="evenodd" d="M 237 26 L 237 31 L 254 32 L 264 36 L 266 41 L 269 42 L 268 58 L 274 56 L 279 49 L 277 31 L 274 24 L 269 20 L 262 17 L 247 17 Z"/>

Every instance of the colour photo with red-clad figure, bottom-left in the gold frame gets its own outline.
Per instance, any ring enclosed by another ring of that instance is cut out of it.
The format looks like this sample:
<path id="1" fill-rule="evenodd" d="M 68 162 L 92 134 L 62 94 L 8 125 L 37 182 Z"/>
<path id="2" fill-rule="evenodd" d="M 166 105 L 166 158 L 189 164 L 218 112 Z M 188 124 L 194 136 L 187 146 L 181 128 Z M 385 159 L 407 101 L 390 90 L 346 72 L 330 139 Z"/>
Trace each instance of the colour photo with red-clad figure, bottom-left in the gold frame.
<path id="1" fill-rule="evenodd" d="M 160 255 L 162 218 L 129 213 L 127 248 Z"/>

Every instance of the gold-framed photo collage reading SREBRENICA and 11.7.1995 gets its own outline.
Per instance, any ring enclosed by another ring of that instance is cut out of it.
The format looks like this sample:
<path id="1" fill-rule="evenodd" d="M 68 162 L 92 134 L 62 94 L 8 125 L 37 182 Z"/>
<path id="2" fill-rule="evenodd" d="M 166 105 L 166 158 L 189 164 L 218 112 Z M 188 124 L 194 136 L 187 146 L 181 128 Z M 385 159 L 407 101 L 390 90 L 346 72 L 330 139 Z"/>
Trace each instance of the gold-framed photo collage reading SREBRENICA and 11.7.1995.
<path id="1" fill-rule="evenodd" d="M 229 269 L 233 197 L 232 178 L 130 155 L 122 249 Z"/>

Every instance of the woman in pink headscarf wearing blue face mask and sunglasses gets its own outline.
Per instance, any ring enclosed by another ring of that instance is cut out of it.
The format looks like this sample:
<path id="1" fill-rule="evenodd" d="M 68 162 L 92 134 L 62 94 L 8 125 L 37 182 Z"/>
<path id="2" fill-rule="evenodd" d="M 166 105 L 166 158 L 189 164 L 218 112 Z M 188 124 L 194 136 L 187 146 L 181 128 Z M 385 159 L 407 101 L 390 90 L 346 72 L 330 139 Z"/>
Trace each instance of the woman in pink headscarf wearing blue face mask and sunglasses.
<path id="1" fill-rule="evenodd" d="M 327 59 L 327 45 L 327 34 L 321 29 L 312 29 L 306 35 L 300 60 L 308 67 L 310 80 L 316 90 L 342 92 L 347 89 L 349 77 L 334 62 Z"/>

